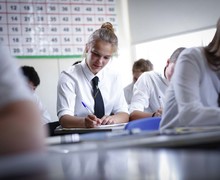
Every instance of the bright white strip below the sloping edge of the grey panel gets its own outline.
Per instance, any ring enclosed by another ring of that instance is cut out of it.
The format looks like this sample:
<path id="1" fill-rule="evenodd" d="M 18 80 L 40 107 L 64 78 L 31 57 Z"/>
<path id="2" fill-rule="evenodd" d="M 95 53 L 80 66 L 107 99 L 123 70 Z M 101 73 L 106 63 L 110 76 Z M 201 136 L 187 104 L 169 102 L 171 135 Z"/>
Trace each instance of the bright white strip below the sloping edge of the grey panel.
<path id="1" fill-rule="evenodd" d="M 213 38 L 215 28 L 173 36 L 160 40 L 137 44 L 135 58 L 149 59 L 154 70 L 163 73 L 166 61 L 178 47 L 193 47 L 207 45 Z"/>

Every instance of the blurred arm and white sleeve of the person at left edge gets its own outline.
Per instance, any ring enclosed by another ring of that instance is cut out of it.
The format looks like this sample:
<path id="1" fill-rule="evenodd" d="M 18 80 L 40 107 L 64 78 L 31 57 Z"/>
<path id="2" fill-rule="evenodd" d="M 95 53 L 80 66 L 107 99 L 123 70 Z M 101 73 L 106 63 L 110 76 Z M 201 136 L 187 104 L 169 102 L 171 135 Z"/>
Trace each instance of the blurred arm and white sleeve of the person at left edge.
<path id="1" fill-rule="evenodd" d="M 41 151 L 45 135 L 19 67 L 0 45 L 0 156 Z"/>

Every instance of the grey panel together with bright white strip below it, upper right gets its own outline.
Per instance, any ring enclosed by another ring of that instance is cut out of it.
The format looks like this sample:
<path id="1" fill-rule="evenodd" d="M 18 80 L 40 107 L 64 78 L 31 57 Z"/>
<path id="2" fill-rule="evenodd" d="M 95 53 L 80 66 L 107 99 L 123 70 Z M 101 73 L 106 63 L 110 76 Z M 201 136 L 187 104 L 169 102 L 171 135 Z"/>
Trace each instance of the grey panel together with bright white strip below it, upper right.
<path id="1" fill-rule="evenodd" d="M 149 59 L 163 74 L 176 48 L 210 42 L 219 7 L 219 0 L 128 0 L 132 59 Z"/>

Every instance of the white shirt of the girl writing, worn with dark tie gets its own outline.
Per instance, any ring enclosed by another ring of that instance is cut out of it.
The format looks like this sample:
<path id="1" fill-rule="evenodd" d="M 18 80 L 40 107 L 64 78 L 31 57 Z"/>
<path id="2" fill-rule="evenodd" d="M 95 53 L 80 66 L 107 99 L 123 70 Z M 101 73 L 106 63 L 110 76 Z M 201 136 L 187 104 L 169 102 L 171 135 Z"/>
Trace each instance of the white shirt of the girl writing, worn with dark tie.
<path id="1" fill-rule="evenodd" d="M 122 81 L 106 65 L 96 76 L 99 77 L 99 89 L 101 91 L 105 115 L 118 112 L 128 113 L 128 106 L 125 101 Z M 85 60 L 69 67 L 60 75 L 57 88 L 57 115 L 85 117 L 88 110 L 94 112 L 94 99 L 92 95 L 92 79 L 95 75 L 89 70 Z"/>

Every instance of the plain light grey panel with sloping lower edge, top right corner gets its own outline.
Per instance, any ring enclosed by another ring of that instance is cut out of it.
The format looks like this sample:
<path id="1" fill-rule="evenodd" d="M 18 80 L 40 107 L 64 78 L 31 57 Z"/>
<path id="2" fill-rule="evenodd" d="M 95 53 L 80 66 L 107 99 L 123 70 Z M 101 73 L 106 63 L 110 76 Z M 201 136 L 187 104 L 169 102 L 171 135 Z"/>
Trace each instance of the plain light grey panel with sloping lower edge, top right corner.
<path id="1" fill-rule="evenodd" d="M 132 44 L 213 28 L 219 0 L 128 0 Z"/>

